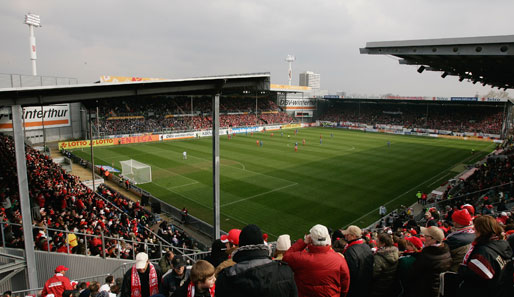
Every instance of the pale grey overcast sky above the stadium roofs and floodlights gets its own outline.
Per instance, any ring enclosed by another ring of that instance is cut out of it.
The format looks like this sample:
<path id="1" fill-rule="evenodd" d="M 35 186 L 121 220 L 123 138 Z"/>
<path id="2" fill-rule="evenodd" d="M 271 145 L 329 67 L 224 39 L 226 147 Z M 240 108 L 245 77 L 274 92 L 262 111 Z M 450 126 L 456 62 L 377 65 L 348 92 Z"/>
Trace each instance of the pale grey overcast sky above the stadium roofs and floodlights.
<path id="1" fill-rule="evenodd" d="M 474 96 L 491 88 L 359 54 L 370 41 L 514 34 L 510 0 L 2 0 L 0 73 L 31 74 L 27 12 L 39 14 L 38 74 L 184 78 L 321 74 L 331 93 Z M 512 93 L 511 93 L 512 94 Z"/>

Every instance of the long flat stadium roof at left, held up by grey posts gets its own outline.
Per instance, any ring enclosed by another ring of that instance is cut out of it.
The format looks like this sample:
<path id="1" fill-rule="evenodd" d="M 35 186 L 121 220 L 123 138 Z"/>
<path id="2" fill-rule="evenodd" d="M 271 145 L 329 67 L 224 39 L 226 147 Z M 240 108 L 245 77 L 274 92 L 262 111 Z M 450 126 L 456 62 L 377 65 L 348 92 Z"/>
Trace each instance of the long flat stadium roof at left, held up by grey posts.
<path id="1" fill-rule="evenodd" d="M 88 102 L 116 97 L 155 95 L 201 95 L 216 92 L 268 91 L 270 73 L 233 74 L 209 77 L 93 83 L 65 86 L 42 86 L 0 89 L 0 106 L 47 105 L 68 102 Z"/>

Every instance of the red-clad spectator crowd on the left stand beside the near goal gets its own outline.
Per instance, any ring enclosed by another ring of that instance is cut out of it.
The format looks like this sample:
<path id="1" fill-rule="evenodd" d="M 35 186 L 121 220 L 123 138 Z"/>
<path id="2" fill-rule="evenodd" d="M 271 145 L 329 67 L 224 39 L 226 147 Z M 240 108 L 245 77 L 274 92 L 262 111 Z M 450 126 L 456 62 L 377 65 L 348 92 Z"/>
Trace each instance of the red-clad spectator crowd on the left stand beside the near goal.
<path id="1" fill-rule="evenodd" d="M 183 231 L 160 223 L 134 202 L 105 186 L 98 193 L 48 155 L 25 146 L 35 248 L 43 251 L 134 259 L 139 251 L 159 257 L 159 242 L 193 248 Z M 0 135 L 0 219 L 5 246 L 24 248 L 14 141 Z M 104 237 L 102 246 L 101 237 Z"/>

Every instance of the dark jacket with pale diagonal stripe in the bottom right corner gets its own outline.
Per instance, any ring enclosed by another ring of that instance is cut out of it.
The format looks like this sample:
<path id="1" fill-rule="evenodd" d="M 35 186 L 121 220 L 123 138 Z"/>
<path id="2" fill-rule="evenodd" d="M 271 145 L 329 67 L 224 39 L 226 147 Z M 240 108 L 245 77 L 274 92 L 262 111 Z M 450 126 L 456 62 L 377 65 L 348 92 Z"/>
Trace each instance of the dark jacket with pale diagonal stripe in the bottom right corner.
<path id="1" fill-rule="evenodd" d="M 505 240 L 490 240 L 476 245 L 466 265 L 459 267 L 460 284 L 458 296 L 514 296 L 513 276 L 505 276 L 507 265 L 512 263 L 512 250 Z M 512 270 L 510 270 L 512 274 Z M 509 280 L 508 285 L 504 283 Z M 509 291 L 510 290 L 510 291 Z"/>

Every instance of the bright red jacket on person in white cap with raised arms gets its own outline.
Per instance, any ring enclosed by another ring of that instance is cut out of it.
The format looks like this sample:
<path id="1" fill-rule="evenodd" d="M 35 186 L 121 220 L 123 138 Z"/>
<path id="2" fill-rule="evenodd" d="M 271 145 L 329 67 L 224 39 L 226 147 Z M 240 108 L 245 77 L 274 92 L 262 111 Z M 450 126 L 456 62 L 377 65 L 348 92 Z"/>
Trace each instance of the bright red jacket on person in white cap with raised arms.
<path id="1" fill-rule="evenodd" d="M 299 297 L 344 297 L 348 293 L 348 265 L 343 255 L 330 246 L 307 246 L 299 239 L 284 254 L 282 261 L 293 269 Z"/>

